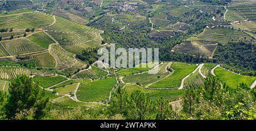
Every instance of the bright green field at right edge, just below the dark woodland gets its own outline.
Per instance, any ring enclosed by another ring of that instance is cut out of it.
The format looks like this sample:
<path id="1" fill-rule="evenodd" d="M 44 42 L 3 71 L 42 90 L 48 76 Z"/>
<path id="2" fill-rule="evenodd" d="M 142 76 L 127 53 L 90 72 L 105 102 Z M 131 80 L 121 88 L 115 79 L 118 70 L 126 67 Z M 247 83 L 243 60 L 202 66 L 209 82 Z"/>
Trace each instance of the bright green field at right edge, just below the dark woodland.
<path id="1" fill-rule="evenodd" d="M 256 78 L 255 76 L 237 75 L 220 67 L 214 69 L 214 74 L 220 78 L 222 83 L 226 83 L 226 85 L 232 88 L 236 88 L 240 83 L 245 83 L 247 86 L 250 86 Z"/>

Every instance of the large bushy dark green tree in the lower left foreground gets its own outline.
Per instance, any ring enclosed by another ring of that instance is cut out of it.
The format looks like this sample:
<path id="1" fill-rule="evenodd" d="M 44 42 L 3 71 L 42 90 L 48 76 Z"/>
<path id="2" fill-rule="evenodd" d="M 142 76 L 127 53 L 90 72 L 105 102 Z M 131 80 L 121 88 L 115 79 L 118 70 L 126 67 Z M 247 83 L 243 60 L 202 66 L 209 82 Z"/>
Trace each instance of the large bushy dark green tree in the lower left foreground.
<path id="1" fill-rule="evenodd" d="M 20 119 L 40 119 L 44 116 L 44 108 L 49 101 L 44 95 L 44 90 L 32 78 L 18 76 L 9 86 L 5 104 L 7 119 L 15 119 L 16 116 Z"/>

